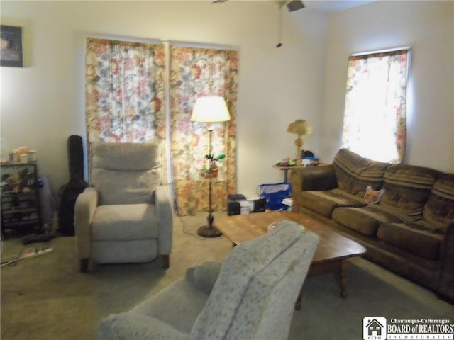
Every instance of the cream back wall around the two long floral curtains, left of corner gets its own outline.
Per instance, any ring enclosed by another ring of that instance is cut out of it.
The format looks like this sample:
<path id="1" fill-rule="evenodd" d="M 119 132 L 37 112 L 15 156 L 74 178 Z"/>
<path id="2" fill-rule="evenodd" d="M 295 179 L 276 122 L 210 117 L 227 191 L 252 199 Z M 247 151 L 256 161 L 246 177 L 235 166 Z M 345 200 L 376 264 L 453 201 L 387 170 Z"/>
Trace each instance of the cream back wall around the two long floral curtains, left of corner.
<path id="1" fill-rule="evenodd" d="M 1 1 L 1 23 L 23 26 L 26 55 L 24 68 L 0 69 L 2 149 L 38 149 L 54 193 L 67 181 L 67 137 L 85 140 L 87 36 L 220 45 L 240 52 L 238 192 L 282 181 L 272 164 L 294 154 L 287 125 L 306 118 L 319 130 L 328 18 L 285 10 L 277 49 L 277 13 L 272 1 Z"/>

